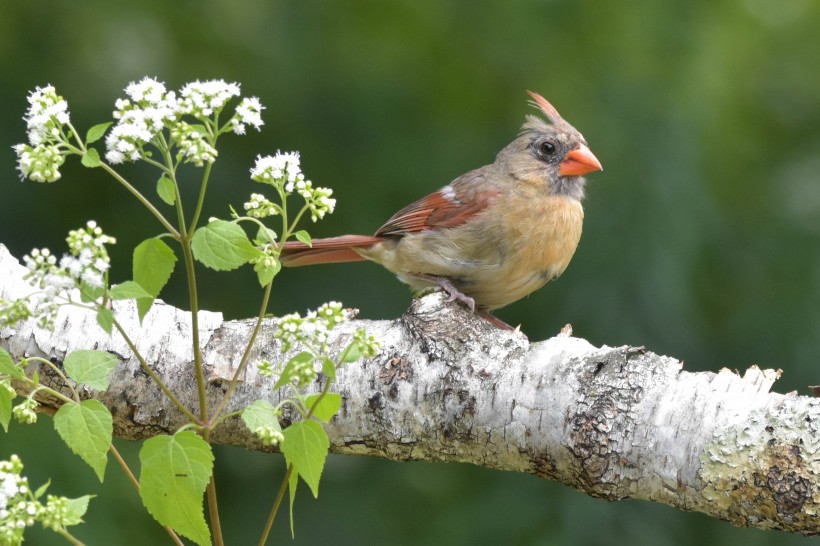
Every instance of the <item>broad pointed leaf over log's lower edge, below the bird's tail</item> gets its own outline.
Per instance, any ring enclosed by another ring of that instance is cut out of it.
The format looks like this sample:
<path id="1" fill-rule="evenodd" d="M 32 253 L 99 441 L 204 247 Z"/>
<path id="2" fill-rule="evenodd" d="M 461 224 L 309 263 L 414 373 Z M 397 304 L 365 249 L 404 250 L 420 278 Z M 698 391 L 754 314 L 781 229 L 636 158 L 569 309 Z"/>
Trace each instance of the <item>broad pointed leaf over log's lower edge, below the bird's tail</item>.
<path id="1" fill-rule="evenodd" d="M 285 439 L 281 446 L 285 460 L 293 465 L 294 472 L 302 476 L 313 496 L 318 497 L 319 479 L 330 447 L 325 429 L 313 420 L 298 421 L 286 428 L 283 434 Z"/>

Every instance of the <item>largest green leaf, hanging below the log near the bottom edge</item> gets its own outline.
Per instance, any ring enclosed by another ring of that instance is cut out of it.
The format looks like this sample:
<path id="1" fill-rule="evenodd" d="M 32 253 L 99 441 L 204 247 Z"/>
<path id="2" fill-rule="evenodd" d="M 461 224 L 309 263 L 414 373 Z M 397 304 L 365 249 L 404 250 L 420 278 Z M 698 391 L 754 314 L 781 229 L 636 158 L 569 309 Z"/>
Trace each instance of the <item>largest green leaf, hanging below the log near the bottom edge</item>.
<path id="1" fill-rule="evenodd" d="M 191 431 L 155 436 L 140 450 L 140 497 L 148 512 L 202 546 L 211 544 L 203 495 L 214 456 L 205 440 Z"/>

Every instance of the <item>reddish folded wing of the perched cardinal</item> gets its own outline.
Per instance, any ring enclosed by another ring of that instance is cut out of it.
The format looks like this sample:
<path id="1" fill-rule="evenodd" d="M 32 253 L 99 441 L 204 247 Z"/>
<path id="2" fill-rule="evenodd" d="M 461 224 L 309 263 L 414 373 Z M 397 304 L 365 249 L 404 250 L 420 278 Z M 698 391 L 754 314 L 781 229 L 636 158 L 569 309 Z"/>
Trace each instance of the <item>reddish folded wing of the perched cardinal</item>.
<path id="1" fill-rule="evenodd" d="M 467 173 L 440 190 L 407 205 L 380 227 L 376 236 L 451 228 L 467 222 L 493 203 L 499 194 L 481 174 L 482 170 Z"/>

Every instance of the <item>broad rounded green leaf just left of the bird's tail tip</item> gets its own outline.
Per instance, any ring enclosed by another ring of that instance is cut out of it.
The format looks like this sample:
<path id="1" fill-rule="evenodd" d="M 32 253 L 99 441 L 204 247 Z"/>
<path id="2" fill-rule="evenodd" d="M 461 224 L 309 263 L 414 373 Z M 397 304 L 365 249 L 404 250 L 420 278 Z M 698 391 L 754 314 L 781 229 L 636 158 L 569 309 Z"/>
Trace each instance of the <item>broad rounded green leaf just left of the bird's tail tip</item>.
<path id="1" fill-rule="evenodd" d="M 259 255 L 245 231 L 225 220 L 214 220 L 197 229 L 191 250 L 198 261 L 216 271 L 231 271 Z"/>

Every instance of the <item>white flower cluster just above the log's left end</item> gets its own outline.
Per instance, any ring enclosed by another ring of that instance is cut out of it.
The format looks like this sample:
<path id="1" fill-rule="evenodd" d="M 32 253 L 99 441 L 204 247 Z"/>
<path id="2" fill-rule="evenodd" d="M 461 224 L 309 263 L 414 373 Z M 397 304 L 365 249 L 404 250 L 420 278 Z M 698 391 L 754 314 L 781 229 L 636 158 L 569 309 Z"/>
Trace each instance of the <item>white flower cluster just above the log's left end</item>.
<path id="1" fill-rule="evenodd" d="M 37 307 L 42 313 L 40 323 L 44 327 L 53 325 L 59 296 L 75 287 L 100 289 L 105 286 L 105 273 L 111 263 L 105 245 L 117 241 L 90 220 L 84 228 L 70 231 L 66 242 L 70 254 L 64 254 L 59 264 L 47 248 L 35 248 L 23 256 L 29 269 L 26 280 L 42 290 Z"/>

